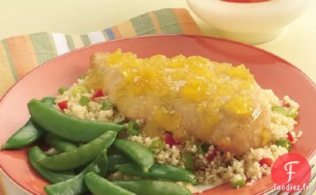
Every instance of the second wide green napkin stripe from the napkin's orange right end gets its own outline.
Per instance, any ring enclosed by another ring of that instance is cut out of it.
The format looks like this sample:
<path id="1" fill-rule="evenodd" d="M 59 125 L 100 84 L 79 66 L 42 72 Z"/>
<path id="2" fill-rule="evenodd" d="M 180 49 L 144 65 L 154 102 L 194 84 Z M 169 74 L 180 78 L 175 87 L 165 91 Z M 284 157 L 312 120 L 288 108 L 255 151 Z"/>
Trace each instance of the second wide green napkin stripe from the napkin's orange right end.
<path id="1" fill-rule="evenodd" d="M 131 22 L 137 35 L 155 35 L 156 29 L 148 13 L 132 18 Z"/>

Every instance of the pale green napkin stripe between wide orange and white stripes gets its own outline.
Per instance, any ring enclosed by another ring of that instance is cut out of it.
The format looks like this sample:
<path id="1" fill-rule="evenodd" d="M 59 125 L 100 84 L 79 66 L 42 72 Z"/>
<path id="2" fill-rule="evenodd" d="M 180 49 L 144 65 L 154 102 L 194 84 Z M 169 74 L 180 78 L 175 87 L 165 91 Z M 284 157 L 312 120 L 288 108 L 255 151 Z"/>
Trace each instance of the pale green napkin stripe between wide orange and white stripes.
<path id="1" fill-rule="evenodd" d="M 52 42 L 51 34 L 43 32 L 30 34 L 29 36 L 39 65 L 57 57 L 56 47 Z"/>

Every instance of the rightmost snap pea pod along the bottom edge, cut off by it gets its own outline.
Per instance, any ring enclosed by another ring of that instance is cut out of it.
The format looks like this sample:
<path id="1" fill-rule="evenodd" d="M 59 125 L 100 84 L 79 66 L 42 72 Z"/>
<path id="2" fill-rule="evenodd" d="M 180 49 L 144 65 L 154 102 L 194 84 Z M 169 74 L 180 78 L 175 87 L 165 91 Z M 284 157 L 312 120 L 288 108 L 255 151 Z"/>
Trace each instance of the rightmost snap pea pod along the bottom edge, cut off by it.
<path id="1" fill-rule="evenodd" d="M 191 195 L 188 189 L 173 182 L 128 180 L 113 182 L 113 184 L 137 195 Z"/>

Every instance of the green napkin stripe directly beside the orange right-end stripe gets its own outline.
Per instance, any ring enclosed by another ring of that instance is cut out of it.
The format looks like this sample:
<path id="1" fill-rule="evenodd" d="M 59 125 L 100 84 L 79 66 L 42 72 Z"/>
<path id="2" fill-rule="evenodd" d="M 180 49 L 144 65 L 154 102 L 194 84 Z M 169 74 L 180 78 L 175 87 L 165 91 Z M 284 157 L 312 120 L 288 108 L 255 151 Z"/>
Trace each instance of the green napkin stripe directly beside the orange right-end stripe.
<path id="1" fill-rule="evenodd" d="M 162 34 L 182 34 L 182 28 L 172 9 L 154 11 Z"/>

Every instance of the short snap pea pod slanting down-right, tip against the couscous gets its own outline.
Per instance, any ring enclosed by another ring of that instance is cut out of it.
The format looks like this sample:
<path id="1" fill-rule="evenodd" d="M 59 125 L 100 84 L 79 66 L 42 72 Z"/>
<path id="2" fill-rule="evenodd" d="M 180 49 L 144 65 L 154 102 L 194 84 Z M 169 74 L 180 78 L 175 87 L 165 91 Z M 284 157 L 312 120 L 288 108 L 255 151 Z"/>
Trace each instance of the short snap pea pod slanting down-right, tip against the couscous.
<path id="1" fill-rule="evenodd" d="M 142 144 L 126 139 L 117 139 L 114 142 L 114 147 L 130 157 L 146 173 L 154 164 L 153 153 Z"/>

